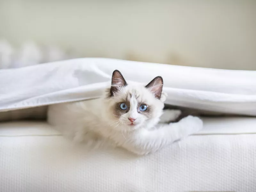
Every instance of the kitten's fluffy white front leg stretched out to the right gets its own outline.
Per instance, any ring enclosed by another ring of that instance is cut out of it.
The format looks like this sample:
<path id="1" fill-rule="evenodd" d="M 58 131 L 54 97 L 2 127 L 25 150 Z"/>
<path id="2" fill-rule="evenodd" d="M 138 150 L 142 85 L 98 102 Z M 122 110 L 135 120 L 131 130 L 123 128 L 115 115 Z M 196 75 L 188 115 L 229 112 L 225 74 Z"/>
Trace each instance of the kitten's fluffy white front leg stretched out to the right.
<path id="1" fill-rule="evenodd" d="M 139 155 L 155 152 L 164 146 L 193 134 L 203 128 L 203 121 L 195 116 L 187 116 L 177 123 L 158 124 L 157 129 L 142 129 L 124 143 L 124 148 Z"/>

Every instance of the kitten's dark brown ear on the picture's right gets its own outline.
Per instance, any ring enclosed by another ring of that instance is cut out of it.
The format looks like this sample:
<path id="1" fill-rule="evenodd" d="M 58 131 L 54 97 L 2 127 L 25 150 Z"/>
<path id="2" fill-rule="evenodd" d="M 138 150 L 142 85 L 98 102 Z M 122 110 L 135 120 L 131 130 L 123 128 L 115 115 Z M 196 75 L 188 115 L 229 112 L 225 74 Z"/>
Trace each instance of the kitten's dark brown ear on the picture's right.
<path id="1" fill-rule="evenodd" d="M 161 98 L 163 91 L 164 81 L 161 76 L 155 77 L 149 84 L 146 85 L 146 88 L 152 92 L 157 99 Z"/>

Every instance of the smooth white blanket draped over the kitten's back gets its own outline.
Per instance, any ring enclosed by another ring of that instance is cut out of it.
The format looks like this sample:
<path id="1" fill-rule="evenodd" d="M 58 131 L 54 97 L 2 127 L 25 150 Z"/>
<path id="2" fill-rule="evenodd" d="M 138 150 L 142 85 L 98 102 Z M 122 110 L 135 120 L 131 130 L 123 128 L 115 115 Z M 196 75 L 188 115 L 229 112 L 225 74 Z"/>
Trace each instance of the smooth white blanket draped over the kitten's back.
<path id="1" fill-rule="evenodd" d="M 164 79 L 166 104 L 256 116 L 256 71 L 84 58 L 0 70 L 0 111 L 98 98 L 118 69 L 130 81 Z"/>

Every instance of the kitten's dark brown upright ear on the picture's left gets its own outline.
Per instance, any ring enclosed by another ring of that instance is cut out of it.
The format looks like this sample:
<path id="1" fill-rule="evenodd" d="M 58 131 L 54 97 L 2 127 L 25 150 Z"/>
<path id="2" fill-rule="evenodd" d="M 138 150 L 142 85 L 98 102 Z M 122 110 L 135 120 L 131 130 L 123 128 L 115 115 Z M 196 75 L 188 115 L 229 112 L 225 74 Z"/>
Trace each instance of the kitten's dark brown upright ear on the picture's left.
<path id="1" fill-rule="evenodd" d="M 127 85 L 122 73 L 118 70 L 115 70 L 112 74 L 112 81 L 111 81 L 111 88 L 110 88 L 110 94 L 111 96 L 114 95 L 115 92 L 120 89 L 120 87 L 124 87 Z"/>

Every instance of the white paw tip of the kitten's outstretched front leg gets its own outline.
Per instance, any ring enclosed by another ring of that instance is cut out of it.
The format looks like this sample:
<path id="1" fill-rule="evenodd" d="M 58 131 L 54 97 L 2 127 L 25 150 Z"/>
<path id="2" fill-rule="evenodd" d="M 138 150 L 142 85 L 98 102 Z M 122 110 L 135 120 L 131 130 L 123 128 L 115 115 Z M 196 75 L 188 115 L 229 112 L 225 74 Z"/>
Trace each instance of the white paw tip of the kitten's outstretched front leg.
<path id="1" fill-rule="evenodd" d="M 187 116 L 180 120 L 182 131 L 185 135 L 191 135 L 203 129 L 203 121 L 196 116 Z"/>

